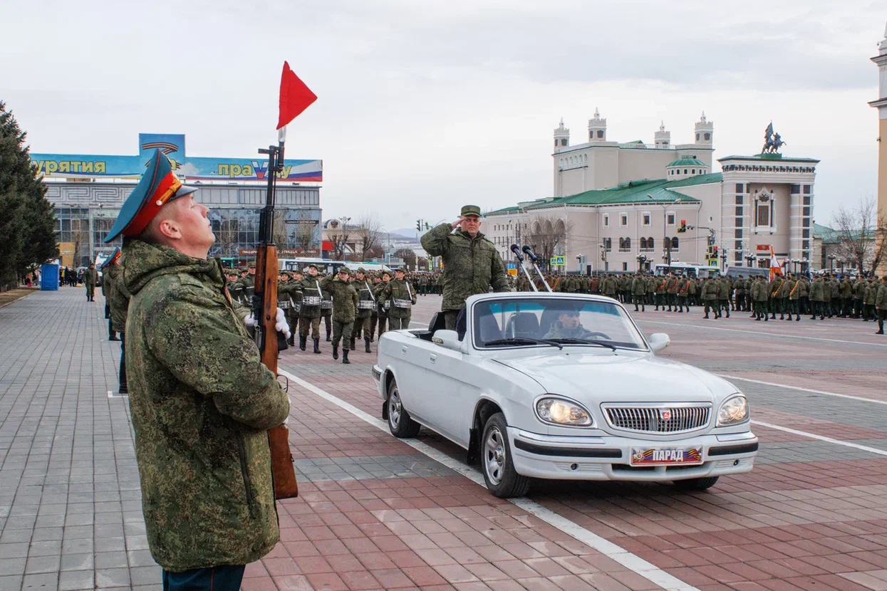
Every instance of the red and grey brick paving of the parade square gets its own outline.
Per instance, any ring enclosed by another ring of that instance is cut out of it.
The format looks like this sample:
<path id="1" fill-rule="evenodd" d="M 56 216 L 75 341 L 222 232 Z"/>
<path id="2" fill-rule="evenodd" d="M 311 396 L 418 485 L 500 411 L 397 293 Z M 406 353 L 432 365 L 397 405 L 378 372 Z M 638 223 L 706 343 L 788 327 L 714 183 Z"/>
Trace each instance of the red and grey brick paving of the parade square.
<path id="1" fill-rule="evenodd" d="M 427 322 L 438 304 L 420 298 L 414 321 Z M 107 395 L 119 345 L 106 340 L 102 310 L 100 297 L 87 304 L 71 288 L 0 308 L 0 591 L 159 588 L 127 400 Z M 869 335 L 869 323 L 758 328 L 734 315 L 716 324 L 731 331 L 707 330 L 697 314 L 637 318 L 670 333 L 663 354 L 679 361 L 885 396 L 887 348 L 877 344 L 887 341 Z M 374 353 L 357 351 L 344 366 L 321 348 L 287 351 L 281 367 L 380 416 Z M 737 385 L 758 420 L 887 450 L 883 405 Z M 294 384 L 290 393 L 301 496 L 279 503 L 281 542 L 248 565 L 244 589 L 659 588 L 332 402 Z M 707 493 L 545 482 L 530 498 L 703 591 L 887 589 L 887 457 L 755 431 L 755 470 Z M 464 456 L 434 433 L 419 440 Z"/>

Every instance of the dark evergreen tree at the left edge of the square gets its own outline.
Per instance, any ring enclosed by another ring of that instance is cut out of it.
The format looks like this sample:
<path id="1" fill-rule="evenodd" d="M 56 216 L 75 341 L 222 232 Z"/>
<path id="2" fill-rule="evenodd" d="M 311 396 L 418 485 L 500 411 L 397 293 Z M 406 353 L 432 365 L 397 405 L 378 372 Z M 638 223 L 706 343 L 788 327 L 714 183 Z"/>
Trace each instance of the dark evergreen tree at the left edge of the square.
<path id="1" fill-rule="evenodd" d="M 59 256 L 52 206 L 35 174 L 21 130 L 0 101 L 0 285 Z"/>

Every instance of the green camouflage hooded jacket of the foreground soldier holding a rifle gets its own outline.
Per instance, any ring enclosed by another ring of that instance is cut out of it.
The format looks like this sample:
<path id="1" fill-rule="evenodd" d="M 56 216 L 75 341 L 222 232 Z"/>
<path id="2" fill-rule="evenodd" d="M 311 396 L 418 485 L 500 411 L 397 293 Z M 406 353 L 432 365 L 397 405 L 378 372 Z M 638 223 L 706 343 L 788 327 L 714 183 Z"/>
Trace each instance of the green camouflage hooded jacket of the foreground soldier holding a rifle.
<path id="1" fill-rule="evenodd" d="M 139 240 L 123 253 L 151 555 L 171 572 L 258 560 L 279 540 L 267 430 L 287 418 L 287 393 L 259 360 L 218 261 Z"/>

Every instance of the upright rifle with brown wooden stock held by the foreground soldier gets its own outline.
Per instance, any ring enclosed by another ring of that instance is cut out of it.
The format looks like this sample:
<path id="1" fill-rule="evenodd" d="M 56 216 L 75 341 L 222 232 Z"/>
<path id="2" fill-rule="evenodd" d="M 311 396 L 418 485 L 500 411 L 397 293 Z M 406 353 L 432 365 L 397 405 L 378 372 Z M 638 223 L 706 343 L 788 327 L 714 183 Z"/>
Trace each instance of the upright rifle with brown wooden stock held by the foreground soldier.
<path id="1" fill-rule="evenodd" d="M 278 259 L 274 245 L 274 191 L 277 175 L 283 170 L 283 144 L 287 128 L 278 131 L 278 145 L 270 145 L 268 154 L 268 194 L 259 218 L 259 244 L 255 252 L 255 292 L 253 293 L 253 317 L 256 319 L 255 344 L 262 354 L 262 362 L 277 376 L 278 352 L 287 348 L 287 338 L 279 333 L 277 323 Z M 275 499 L 290 499 L 299 494 L 295 481 L 293 455 L 289 450 L 289 429 L 280 424 L 268 430 L 268 446 L 271 448 L 271 481 Z"/>

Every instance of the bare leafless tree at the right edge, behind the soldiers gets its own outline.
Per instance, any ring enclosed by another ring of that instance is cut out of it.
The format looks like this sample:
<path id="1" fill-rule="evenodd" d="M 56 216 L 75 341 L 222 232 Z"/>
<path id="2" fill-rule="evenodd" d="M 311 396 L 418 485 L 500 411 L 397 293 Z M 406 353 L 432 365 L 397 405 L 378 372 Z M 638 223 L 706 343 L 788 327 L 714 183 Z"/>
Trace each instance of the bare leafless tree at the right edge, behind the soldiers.
<path id="1" fill-rule="evenodd" d="M 878 231 L 887 229 L 884 214 L 878 212 L 875 198 L 860 198 L 852 207 L 841 206 L 833 217 L 837 245 L 835 252 L 858 268 L 860 273 L 875 273 L 878 265 L 887 257 L 887 241 L 876 243 Z"/>

